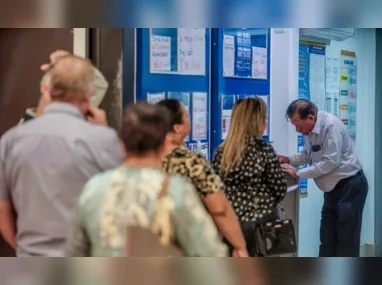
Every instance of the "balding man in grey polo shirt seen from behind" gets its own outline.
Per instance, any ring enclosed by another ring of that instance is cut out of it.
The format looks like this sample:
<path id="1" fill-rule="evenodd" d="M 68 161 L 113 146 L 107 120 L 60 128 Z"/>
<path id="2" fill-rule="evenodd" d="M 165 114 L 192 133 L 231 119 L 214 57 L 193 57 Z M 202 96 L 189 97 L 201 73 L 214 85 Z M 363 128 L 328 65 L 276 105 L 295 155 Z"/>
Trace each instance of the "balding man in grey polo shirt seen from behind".
<path id="1" fill-rule="evenodd" d="M 0 141 L 0 232 L 18 256 L 63 256 L 83 186 L 124 160 L 105 113 L 90 105 L 91 63 L 67 55 L 49 73 L 52 102 Z"/>

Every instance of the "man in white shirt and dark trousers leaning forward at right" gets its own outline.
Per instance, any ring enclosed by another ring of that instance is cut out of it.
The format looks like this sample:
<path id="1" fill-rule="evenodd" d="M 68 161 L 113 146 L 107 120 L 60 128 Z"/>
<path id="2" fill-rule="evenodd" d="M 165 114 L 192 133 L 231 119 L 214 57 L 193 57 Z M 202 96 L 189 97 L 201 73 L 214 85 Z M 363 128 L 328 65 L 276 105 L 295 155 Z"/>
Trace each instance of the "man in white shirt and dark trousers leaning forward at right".
<path id="1" fill-rule="evenodd" d="M 358 257 L 368 183 L 345 125 L 304 99 L 292 102 L 286 116 L 305 136 L 305 145 L 300 154 L 279 156 L 280 162 L 309 165 L 285 171 L 314 179 L 324 192 L 319 256 Z"/>

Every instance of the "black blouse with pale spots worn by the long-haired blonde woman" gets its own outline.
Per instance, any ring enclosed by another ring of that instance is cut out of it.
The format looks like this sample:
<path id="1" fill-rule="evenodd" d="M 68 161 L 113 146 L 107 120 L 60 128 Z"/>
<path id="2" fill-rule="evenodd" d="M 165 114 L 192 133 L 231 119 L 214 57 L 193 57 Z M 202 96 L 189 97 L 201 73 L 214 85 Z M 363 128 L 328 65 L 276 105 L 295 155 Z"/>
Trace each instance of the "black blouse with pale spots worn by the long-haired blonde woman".
<path id="1" fill-rule="evenodd" d="M 217 173 L 220 173 L 221 158 L 222 149 L 218 148 L 212 161 Z M 287 190 L 277 155 L 263 140 L 247 140 L 242 161 L 222 179 L 225 194 L 240 222 L 271 214 Z"/>

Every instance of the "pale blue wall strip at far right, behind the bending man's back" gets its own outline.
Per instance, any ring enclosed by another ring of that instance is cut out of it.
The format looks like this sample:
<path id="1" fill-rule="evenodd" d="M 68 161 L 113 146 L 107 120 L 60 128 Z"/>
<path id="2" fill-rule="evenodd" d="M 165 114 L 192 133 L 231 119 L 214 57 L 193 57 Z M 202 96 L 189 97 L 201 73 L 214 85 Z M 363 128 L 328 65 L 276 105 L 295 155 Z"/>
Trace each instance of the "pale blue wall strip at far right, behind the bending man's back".
<path id="1" fill-rule="evenodd" d="M 355 38 L 344 42 L 331 42 L 327 54 L 338 56 L 341 49 L 354 51 L 357 56 L 356 150 L 369 182 L 361 245 L 374 244 L 375 29 L 358 29 Z"/>

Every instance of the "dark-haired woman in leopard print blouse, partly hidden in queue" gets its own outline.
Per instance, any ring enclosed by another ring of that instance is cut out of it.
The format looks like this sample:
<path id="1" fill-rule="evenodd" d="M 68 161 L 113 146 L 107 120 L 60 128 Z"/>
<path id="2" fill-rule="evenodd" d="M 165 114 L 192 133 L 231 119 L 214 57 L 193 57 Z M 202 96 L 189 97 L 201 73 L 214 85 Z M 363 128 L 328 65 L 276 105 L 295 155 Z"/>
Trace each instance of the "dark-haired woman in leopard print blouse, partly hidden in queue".
<path id="1" fill-rule="evenodd" d="M 233 256 L 248 255 L 243 233 L 231 204 L 224 196 L 224 184 L 209 162 L 184 145 L 190 133 L 190 119 L 182 104 L 173 99 L 158 103 L 171 114 L 171 139 L 163 159 L 167 173 L 186 177 L 196 188 L 223 236 L 233 245 Z"/>

